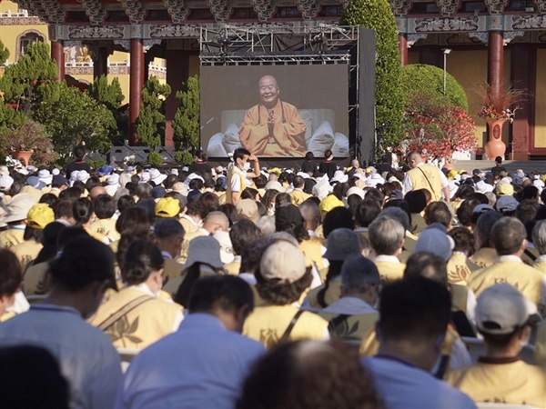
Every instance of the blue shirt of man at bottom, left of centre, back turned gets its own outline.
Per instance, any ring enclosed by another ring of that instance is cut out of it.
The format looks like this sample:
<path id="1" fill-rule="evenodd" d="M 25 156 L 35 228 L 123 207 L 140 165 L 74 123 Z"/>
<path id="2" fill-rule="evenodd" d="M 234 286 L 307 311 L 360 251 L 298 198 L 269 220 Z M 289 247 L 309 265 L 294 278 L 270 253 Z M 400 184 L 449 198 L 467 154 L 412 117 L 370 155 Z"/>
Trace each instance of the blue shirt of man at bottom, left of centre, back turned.
<path id="1" fill-rule="evenodd" d="M 120 408 L 233 408 L 262 344 L 227 331 L 211 314 L 188 314 L 174 334 L 129 365 L 116 397 Z"/>

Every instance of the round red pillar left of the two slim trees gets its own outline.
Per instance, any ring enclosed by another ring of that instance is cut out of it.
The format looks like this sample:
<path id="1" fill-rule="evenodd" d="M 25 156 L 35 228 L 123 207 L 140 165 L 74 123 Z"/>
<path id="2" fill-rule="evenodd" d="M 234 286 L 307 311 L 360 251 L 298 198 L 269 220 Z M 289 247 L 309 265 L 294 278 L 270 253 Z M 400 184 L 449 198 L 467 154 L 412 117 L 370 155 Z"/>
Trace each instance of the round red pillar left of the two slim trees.
<path id="1" fill-rule="evenodd" d="M 136 118 L 142 103 L 144 86 L 144 45 L 139 38 L 131 38 L 131 67 L 129 71 L 129 145 L 138 144 Z"/>

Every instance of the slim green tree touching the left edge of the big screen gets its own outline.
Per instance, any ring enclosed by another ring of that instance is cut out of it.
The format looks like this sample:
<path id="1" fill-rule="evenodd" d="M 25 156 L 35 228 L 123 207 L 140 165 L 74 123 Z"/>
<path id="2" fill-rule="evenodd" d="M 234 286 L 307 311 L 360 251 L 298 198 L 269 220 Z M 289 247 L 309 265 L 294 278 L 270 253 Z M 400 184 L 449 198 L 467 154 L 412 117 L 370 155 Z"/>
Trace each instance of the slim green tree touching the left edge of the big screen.
<path id="1" fill-rule="evenodd" d="M 177 159 L 189 164 L 192 152 L 199 147 L 199 79 L 197 75 L 187 78 L 177 92 L 180 106 L 177 108 L 173 128 Z"/>

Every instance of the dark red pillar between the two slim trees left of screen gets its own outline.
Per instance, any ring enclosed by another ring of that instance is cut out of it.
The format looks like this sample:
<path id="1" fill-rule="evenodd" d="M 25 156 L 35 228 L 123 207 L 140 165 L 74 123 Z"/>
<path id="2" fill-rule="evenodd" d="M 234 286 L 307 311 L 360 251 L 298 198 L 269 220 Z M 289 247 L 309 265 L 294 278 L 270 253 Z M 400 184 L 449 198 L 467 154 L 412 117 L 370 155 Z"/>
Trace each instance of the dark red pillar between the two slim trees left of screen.
<path id="1" fill-rule="evenodd" d="M 187 81 L 189 76 L 189 55 L 190 52 L 184 50 L 167 50 L 167 84 L 171 87 L 171 93 L 167 96 L 165 115 L 165 145 L 174 146 L 173 139 L 175 130 L 172 123 L 177 114 L 178 100 L 177 91 L 182 87 L 182 83 Z"/>

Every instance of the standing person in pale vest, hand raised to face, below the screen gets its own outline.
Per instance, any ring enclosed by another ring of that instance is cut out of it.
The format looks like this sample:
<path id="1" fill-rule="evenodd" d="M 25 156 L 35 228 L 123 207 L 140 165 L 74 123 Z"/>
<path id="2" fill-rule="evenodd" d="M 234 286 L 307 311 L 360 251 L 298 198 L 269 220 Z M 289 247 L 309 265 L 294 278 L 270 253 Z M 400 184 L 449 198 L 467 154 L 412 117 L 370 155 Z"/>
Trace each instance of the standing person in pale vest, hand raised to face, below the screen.
<path id="1" fill-rule="evenodd" d="M 248 173 L 250 162 L 254 162 L 254 172 Z M 247 178 L 258 177 L 259 160 L 245 148 L 237 148 L 233 153 L 233 165 L 227 172 L 226 203 L 237 205 L 241 194 L 247 187 Z"/>

